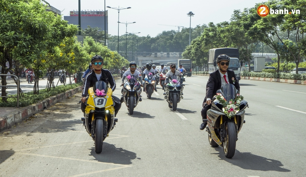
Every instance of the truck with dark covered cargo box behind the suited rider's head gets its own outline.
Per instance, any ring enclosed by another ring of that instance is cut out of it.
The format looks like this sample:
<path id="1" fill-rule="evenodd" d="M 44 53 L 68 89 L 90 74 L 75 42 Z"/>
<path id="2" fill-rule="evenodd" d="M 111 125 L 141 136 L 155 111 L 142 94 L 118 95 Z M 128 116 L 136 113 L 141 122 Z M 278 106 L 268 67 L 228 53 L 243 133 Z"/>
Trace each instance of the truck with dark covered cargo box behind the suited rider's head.
<path id="1" fill-rule="evenodd" d="M 229 70 L 232 70 L 235 73 L 235 76 L 240 80 L 240 64 L 239 64 L 239 50 L 237 48 L 213 48 L 209 51 L 209 60 L 208 60 L 208 73 L 215 72 L 218 69 L 216 59 L 219 55 L 228 55 L 230 57 Z"/>

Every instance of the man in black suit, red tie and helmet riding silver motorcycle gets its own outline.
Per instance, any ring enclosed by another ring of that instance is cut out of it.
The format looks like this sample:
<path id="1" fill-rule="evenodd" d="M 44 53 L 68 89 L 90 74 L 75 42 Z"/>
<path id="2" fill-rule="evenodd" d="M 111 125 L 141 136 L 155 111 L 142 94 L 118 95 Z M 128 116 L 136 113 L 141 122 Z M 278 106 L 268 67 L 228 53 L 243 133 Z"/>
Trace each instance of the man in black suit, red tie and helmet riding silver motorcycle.
<path id="1" fill-rule="evenodd" d="M 209 75 L 208 82 L 206 84 L 206 96 L 203 101 L 203 108 L 201 111 L 202 119 L 207 119 L 207 111 L 211 108 L 211 99 L 216 95 L 217 90 L 221 89 L 226 83 L 233 84 L 238 91 L 240 91 L 239 83 L 236 79 L 235 73 L 228 70 L 230 64 L 230 57 L 227 55 L 219 55 L 217 57 L 217 65 L 219 69 Z M 234 82 L 233 82 L 234 80 Z M 205 103 L 209 106 L 205 106 Z M 200 125 L 200 130 L 206 127 L 207 123 L 203 122 Z"/>

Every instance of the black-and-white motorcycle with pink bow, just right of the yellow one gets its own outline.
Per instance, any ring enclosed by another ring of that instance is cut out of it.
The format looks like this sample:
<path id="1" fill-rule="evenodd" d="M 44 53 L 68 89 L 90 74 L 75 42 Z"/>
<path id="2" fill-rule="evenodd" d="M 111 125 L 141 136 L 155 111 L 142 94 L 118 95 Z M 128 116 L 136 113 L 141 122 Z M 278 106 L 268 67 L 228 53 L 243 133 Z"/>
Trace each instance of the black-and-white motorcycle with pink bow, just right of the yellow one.
<path id="1" fill-rule="evenodd" d="M 123 85 L 122 90 L 123 101 L 126 107 L 128 107 L 129 114 L 132 115 L 134 108 L 139 103 L 141 87 L 135 75 L 127 76 L 126 80 L 127 82 Z"/>

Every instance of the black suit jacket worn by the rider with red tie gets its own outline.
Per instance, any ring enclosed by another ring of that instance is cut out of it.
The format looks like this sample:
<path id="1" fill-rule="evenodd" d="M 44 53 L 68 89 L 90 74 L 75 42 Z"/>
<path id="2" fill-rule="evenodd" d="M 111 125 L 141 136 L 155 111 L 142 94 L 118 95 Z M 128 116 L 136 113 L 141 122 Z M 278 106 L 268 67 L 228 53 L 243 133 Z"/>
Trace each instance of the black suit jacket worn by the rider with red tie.
<path id="1" fill-rule="evenodd" d="M 227 77 L 229 80 L 227 81 L 230 84 L 233 84 L 236 89 L 240 92 L 240 86 L 236 79 L 235 73 L 231 70 L 227 70 Z M 232 78 L 234 78 L 235 83 L 233 83 Z M 208 82 L 206 84 L 206 96 L 203 101 L 203 105 L 206 103 L 206 99 L 212 99 L 213 96 L 216 95 L 217 90 L 221 89 L 221 75 L 219 69 L 209 75 Z"/>

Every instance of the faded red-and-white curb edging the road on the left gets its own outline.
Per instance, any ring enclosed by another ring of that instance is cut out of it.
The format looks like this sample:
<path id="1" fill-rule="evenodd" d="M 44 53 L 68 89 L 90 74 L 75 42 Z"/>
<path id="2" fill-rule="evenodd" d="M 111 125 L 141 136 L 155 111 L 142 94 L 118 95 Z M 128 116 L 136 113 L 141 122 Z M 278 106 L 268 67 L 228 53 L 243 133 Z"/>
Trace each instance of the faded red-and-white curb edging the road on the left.
<path id="1" fill-rule="evenodd" d="M 63 93 L 44 99 L 36 104 L 24 107 L 18 111 L 10 112 L 5 117 L 0 117 L 0 132 L 6 129 L 10 129 L 12 126 L 16 125 L 17 123 L 22 122 L 25 119 L 28 119 L 30 116 L 58 103 L 59 101 L 66 99 L 67 97 L 70 97 L 78 93 L 81 90 L 82 86 L 76 87 L 74 89 L 67 90 Z"/>

